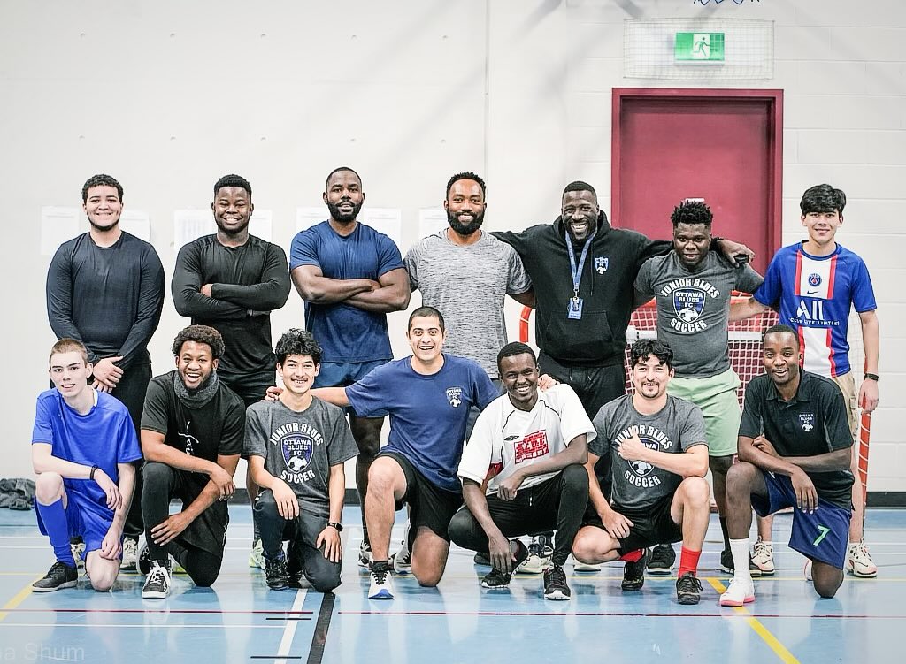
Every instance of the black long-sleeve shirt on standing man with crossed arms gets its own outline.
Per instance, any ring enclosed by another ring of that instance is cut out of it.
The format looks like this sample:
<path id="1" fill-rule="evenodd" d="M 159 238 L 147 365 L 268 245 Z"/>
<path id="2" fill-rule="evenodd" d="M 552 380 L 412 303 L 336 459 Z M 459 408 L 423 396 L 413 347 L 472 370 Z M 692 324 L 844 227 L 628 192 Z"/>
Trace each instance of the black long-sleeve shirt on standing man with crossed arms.
<path id="1" fill-rule="evenodd" d="M 205 284 L 212 284 L 211 297 L 200 293 Z M 282 248 L 255 236 L 235 247 L 221 245 L 217 236 L 199 237 L 179 250 L 172 291 L 180 315 L 223 335 L 221 376 L 274 372 L 270 313 L 286 303 L 290 291 Z"/>

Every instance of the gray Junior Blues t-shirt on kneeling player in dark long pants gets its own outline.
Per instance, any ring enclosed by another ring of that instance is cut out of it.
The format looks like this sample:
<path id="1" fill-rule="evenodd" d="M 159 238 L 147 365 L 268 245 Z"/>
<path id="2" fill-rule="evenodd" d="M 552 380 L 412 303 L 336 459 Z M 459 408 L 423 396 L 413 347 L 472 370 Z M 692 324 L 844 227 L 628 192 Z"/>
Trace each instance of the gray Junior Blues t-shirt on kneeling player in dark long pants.
<path id="1" fill-rule="evenodd" d="M 299 507 L 330 515 L 330 467 L 359 453 L 343 411 L 317 397 L 301 413 L 280 401 L 258 401 L 246 410 L 246 457 L 265 457 L 265 469 L 295 492 Z"/>

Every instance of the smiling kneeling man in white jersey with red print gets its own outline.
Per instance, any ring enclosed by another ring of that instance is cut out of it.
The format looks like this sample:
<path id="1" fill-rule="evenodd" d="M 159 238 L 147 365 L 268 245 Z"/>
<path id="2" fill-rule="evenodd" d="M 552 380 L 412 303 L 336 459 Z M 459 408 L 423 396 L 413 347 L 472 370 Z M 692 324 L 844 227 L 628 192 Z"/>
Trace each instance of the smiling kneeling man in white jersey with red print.
<path id="1" fill-rule="evenodd" d="M 506 394 L 481 412 L 463 451 L 458 476 L 466 506 L 450 521 L 450 539 L 489 553 L 493 569 L 481 585 L 506 590 L 528 558 L 525 544 L 509 538 L 555 529 L 545 599 L 568 600 L 563 566 L 588 503 L 583 464 L 594 427 L 568 385 L 538 392 L 538 362 L 525 343 L 507 343 L 497 369 Z"/>

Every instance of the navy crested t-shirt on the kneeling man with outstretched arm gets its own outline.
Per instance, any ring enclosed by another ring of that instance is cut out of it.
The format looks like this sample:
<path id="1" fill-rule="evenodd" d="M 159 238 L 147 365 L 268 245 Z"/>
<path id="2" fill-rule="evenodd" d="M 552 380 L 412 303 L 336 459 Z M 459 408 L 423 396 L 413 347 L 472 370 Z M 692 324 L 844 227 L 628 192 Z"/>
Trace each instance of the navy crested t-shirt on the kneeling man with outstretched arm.
<path id="1" fill-rule="evenodd" d="M 410 460 L 431 484 L 462 491 L 457 477 L 468 410 L 484 409 L 500 396 L 477 362 L 444 353 L 444 365 L 429 376 L 412 369 L 411 356 L 388 362 L 346 388 L 361 417 L 390 413 L 390 443 L 384 449 Z"/>

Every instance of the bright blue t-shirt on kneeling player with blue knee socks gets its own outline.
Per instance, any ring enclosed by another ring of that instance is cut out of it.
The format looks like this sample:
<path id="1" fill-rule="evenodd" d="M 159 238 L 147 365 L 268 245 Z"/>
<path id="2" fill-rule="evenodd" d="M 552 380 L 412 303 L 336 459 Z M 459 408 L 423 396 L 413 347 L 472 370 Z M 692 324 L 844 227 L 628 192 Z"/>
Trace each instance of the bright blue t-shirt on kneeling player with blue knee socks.
<path id="1" fill-rule="evenodd" d="M 139 438 L 135 435 L 129 410 L 119 399 L 95 391 L 97 402 L 85 415 L 71 409 L 57 390 L 38 395 L 34 412 L 32 444 L 49 443 L 54 457 L 83 466 L 97 466 L 120 483 L 117 464 L 141 458 Z M 63 478 L 70 500 L 97 519 L 110 523 L 113 511 L 101 486 L 92 479 Z"/>

